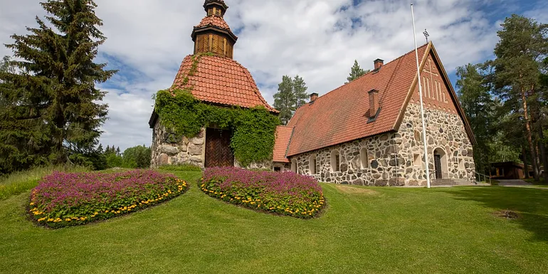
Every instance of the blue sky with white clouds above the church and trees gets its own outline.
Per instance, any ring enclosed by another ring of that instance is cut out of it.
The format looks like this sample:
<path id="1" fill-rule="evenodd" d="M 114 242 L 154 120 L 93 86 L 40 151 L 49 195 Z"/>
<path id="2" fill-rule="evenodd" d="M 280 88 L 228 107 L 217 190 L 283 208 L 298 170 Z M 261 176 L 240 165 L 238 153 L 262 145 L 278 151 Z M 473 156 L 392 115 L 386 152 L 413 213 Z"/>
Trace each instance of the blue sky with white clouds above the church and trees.
<path id="1" fill-rule="evenodd" d="M 354 60 L 372 69 L 414 48 L 409 0 L 225 0 L 225 20 L 238 42 L 234 59 L 250 70 L 263 97 L 273 95 L 283 75 L 300 75 L 320 96 L 343 85 Z M 37 0 L 0 0 L 0 43 L 36 27 L 45 16 Z M 98 63 L 119 72 L 98 85 L 107 91 L 109 119 L 104 147 L 152 142 L 148 121 L 152 95 L 169 88 L 183 58 L 193 53 L 190 34 L 206 16 L 204 0 L 95 0 L 107 41 Z M 548 23 L 544 0 L 416 0 L 419 46 L 426 28 L 453 85 L 455 69 L 492 58 L 500 23 L 522 14 Z M 11 55 L 0 46 L 0 56 Z"/>

